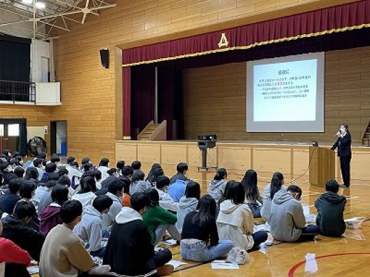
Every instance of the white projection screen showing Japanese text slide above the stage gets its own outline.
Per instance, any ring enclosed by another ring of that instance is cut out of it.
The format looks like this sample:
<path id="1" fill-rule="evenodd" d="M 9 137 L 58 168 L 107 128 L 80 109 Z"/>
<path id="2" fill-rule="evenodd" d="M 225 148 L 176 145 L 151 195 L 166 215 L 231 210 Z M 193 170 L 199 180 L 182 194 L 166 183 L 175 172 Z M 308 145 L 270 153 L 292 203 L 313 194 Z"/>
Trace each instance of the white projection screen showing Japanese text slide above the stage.
<path id="1" fill-rule="evenodd" d="M 323 131 L 323 53 L 247 64 L 248 132 Z"/>

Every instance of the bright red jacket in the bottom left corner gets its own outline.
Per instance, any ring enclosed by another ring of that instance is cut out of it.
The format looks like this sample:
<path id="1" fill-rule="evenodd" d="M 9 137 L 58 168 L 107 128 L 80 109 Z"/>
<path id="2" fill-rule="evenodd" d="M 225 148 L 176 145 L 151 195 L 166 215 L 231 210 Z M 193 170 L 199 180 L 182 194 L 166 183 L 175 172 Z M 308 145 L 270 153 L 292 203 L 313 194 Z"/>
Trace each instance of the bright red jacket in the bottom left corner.
<path id="1" fill-rule="evenodd" d="M 31 258 L 27 251 L 17 246 L 13 241 L 0 237 L 0 263 L 21 263 L 29 265 Z"/>

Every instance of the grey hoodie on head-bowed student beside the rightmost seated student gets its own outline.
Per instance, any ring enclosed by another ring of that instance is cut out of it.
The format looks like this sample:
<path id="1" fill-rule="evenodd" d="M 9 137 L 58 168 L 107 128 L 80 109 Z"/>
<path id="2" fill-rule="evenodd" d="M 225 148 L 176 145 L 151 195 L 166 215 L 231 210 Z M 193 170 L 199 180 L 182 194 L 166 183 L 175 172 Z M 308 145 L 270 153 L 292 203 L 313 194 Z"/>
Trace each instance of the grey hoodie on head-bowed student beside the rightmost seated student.
<path id="1" fill-rule="evenodd" d="M 271 235 L 279 241 L 294 242 L 299 239 L 306 218 L 302 205 L 291 194 L 280 189 L 273 197 L 269 217 Z"/>

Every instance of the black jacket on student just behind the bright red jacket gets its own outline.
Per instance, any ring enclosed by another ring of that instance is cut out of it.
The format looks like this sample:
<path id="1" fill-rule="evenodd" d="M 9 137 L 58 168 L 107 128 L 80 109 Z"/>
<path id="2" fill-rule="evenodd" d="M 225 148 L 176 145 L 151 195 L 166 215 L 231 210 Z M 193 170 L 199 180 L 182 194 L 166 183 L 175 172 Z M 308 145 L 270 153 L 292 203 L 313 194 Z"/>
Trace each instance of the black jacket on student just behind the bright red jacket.
<path id="1" fill-rule="evenodd" d="M 1 237 L 10 239 L 17 246 L 26 250 L 32 259 L 40 261 L 40 252 L 45 236 L 38 233 L 34 228 L 27 226 L 18 218 L 8 215 L 3 219 L 3 233 Z"/>

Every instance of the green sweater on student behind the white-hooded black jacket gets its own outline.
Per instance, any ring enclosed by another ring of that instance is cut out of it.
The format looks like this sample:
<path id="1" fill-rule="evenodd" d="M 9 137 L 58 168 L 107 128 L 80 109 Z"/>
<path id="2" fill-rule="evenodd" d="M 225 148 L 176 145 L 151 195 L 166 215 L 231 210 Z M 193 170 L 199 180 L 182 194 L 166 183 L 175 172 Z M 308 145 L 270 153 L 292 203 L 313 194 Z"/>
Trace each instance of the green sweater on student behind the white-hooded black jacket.
<path id="1" fill-rule="evenodd" d="M 177 217 L 160 206 L 149 207 L 147 212 L 143 214 L 143 222 L 148 226 L 148 230 L 151 235 L 151 243 L 156 243 L 156 228 L 158 225 L 175 224 L 177 222 Z"/>

